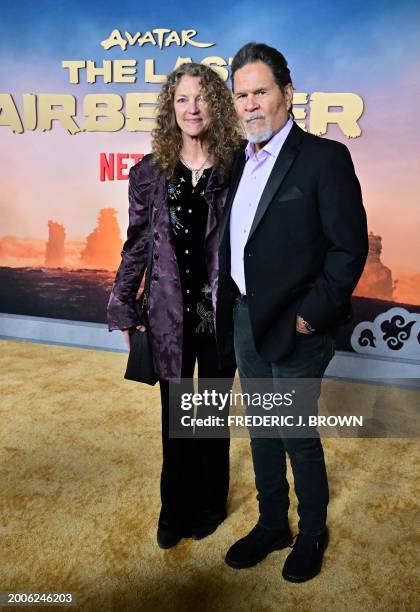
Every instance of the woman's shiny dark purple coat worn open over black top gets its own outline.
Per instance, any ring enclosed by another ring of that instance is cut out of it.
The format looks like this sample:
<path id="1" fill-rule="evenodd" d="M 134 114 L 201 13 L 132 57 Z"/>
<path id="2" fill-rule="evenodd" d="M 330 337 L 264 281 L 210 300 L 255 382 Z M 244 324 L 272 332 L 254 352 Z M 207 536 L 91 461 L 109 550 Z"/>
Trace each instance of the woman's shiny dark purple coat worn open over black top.
<path id="1" fill-rule="evenodd" d="M 159 378 L 179 379 L 182 363 L 183 305 L 178 264 L 167 205 L 167 180 L 146 155 L 129 175 L 129 226 L 122 260 L 108 302 L 108 328 L 127 329 L 139 323 L 134 309 L 147 265 L 149 206 L 153 205 L 153 265 L 148 302 L 153 360 Z M 205 257 L 216 312 L 218 223 L 228 185 L 213 169 L 204 194 L 209 205 Z"/>

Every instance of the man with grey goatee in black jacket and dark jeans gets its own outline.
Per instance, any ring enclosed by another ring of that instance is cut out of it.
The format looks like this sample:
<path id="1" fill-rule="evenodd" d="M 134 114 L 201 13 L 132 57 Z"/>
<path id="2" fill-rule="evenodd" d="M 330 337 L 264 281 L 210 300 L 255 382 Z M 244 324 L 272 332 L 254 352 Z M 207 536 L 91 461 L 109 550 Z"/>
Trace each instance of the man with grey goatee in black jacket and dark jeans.
<path id="1" fill-rule="evenodd" d="M 223 355 L 234 342 L 242 384 L 316 379 L 316 410 L 334 332 L 351 315 L 351 294 L 367 256 L 359 182 L 344 145 L 293 122 L 292 80 L 279 51 L 242 47 L 232 62 L 232 86 L 248 144 L 233 168 L 220 229 L 219 347 Z M 251 432 L 251 449 L 260 516 L 226 562 L 251 567 L 291 544 L 287 452 L 299 534 L 283 577 L 309 580 L 321 569 L 328 539 L 319 436 L 261 438 Z"/>

